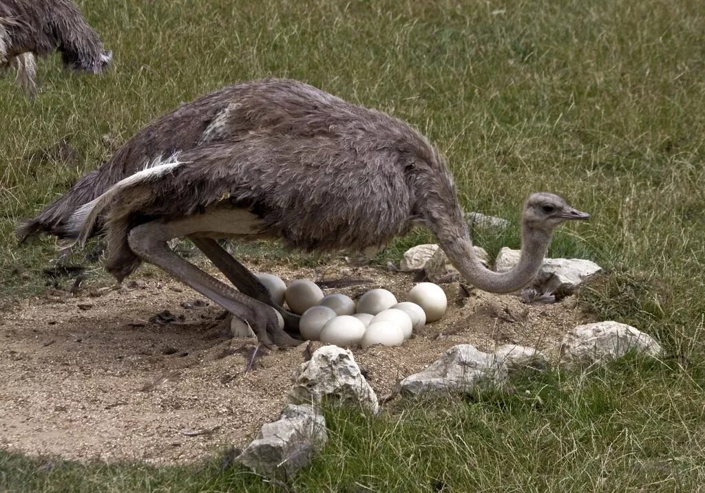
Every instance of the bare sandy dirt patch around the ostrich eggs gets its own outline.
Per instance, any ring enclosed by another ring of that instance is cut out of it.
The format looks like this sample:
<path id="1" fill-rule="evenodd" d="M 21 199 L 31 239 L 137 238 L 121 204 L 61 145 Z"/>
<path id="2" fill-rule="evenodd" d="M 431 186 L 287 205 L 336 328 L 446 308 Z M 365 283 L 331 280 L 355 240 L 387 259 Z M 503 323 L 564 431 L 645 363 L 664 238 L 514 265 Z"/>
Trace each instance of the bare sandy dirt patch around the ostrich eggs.
<path id="1" fill-rule="evenodd" d="M 314 281 L 367 278 L 342 289 L 353 299 L 384 287 L 399 301 L 410 273 L 353 267 L 292 270 L 273 263 L 257 272 Z M 401 347 L 353 349 L 378 396 L 398 377 L 422 370 L 455 344 L 550 349 L 591 317 L 568 297 L 527 305 L 517 297 L 443 285 L 448 313 Z M 167 310 L 171 315 L 158 313 Z M 155 316 L 157 316 L 155 318 Z M 50 290 L 22 299 L 0 316 L 0 447 L 26 454 L 105 461 L 178 463 L 223 447 L 243 447 L 286 401 L 303 348 L 265 350 L 246 371 L 253 339 L 231 339 L 218 306 L 173 280 L 125 282 L 120 288 Z"/>

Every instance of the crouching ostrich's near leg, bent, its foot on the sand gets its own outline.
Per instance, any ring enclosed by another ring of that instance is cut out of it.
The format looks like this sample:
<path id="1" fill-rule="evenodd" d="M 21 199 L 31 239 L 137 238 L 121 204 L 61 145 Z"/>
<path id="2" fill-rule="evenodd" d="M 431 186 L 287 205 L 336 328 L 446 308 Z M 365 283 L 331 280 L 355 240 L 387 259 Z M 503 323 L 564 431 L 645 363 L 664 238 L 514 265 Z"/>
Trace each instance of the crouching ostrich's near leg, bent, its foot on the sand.
<path id="1" fill-rule="evenodd" d="M 183 232 L 184 225 L 178 222 L 171 225 L 156 221 L 139 225 L 129 233 L 130 249 L 140 258 L 166 270 L 185 285 L 233 313 L 234 316 L 247 321 L 255 331 L 259 342 L 274 343 L 277 346 L 300 344 L 300 341 L 293 339 L 279 328 L 276 314 L 268 305 L 204 273 L 168 248 L 166 242 L 178 236 L 179 232 Z"/>

